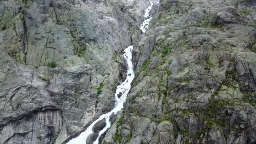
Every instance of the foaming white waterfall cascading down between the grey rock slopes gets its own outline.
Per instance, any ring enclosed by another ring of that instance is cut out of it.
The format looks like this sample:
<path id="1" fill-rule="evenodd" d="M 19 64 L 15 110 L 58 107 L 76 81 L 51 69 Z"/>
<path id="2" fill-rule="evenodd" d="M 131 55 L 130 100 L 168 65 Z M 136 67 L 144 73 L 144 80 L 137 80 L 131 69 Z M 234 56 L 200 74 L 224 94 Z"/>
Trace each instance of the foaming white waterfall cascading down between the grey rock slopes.
<path id="1" fill-rule="evenodd" d="M 145 10 L 145 20 L 143 24 L 141 24 L 141 30 L 142 32 L 146 32 L 149 21 L 152 19 L 152 17 L 149 17 L 149 11 L 152 8 L 153 3 L 150 2 L 150 6 Z M 71 139 L 67 144 L 85 144 L 87 137 L 94 133 L 92 131 L 93 125 L 97 123 L 99 120 L 106 119 L 107 125 L 99 132 L 98 137 L 96 141 L 93 142 L 93 144 L 98 144 L 99 143 L 99 136 L 101 136 L 102 133 L 104 133 L 108 128 L 110 128 L 111 123 L 109 122 L 109 116 L 112 115 L 112 113 L 116 114 L 119 112 L 121 109 L 123 109 L 123 103 L 126 100 L 126 97 L 128 95 L 128 92 L 131 89 L 131 82 L 134 78 L 134 72 L 133 72 L 133 64 L 132 64 L 132 51 L 133 51 L 133 45 L 128 46 L 128 48 L 125 48 L 124 50 L 124 58 L 127 61 L 128 64 L 128 70 L 127 70 L 127 76 L 126 80 L 121 84 L 117 86 L 116 93 L 115 93 L 115 108 L 112 109 L 112 111 L 108 112 L 107 114 L 101 115 L 97 120 L 95 120 L 87 129 L 86 131 L 82 132 L 79 136 L 77 136 L 74 139 Z M 131 75 L 130 75 L 131 74 Z M 122 96 L 120 98 L 117 97 L 118 93 L 122 93 Z"/>

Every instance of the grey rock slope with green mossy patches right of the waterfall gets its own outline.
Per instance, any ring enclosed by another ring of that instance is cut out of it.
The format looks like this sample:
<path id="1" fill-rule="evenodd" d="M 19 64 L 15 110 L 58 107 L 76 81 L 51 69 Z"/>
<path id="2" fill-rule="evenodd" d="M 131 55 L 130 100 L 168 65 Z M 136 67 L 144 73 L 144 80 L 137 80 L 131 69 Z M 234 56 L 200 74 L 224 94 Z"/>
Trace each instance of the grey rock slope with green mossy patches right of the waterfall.
<path id="1" fill-rule="evenodd" d="M 104 143 L 256 143 L 255 0 L 160 0 Z"/>

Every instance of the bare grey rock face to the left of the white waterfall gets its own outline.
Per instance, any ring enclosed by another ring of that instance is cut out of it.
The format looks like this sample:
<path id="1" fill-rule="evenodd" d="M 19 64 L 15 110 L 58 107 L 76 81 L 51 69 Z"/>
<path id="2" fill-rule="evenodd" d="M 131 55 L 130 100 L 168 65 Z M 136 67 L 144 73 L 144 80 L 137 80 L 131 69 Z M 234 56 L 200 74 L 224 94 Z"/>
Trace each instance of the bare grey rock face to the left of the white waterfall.
<path id="1" fill-rule="evenodd" d="M 0 2 L 0 144 L 65 143 L 113 107 L 135 0 Z"/>

